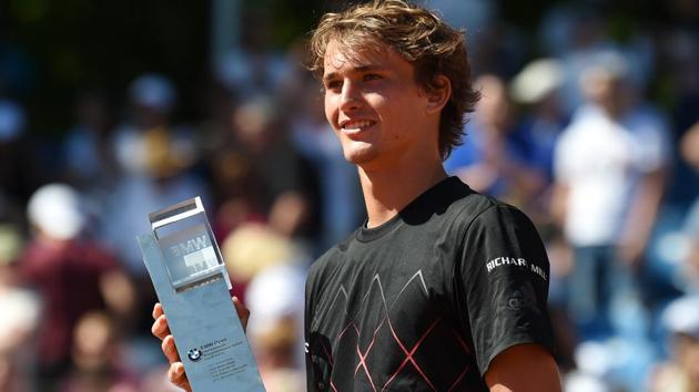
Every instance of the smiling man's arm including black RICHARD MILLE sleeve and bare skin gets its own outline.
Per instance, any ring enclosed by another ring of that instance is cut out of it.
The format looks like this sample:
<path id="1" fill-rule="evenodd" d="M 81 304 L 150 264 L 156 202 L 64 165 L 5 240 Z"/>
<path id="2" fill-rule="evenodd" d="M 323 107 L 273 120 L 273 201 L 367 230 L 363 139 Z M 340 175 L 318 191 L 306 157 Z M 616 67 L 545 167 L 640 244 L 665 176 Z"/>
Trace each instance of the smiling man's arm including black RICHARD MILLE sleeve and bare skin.
<path id="1" fill-rule="evenodd" d="M 560 391 L 546 303 L 550 270 L 534 224 L 494 205 L 470 223 L 464 244 L 465 321 L 485 383 L 494 392 Z"/>

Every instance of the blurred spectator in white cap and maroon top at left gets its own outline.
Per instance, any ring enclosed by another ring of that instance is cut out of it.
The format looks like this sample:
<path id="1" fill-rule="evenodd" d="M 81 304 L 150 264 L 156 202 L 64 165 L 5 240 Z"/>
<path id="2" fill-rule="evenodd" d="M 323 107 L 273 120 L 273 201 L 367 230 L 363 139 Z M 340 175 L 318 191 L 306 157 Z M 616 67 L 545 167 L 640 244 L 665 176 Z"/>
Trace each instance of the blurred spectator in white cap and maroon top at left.
<path id="1" fill-rule="evenodd" d="M 18 271 L 42 302 L 38 386 L 52 392 L 70 369 L 72 331 L 80 317 L 108 306 L 125 316 L 133 296 L 114 257 L 81 236 L 85 217 L 72 188 L 41 187 L 29 200 L 28 216 L 33 238 L 19 256 Z"/>

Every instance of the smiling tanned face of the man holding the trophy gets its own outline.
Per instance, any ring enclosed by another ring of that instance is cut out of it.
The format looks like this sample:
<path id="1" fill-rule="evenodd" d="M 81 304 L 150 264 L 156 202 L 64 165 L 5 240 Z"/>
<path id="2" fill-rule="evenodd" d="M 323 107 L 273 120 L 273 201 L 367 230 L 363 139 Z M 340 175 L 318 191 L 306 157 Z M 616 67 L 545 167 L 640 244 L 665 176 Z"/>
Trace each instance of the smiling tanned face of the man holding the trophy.
<path id="1" fill-rule="evenodd" d="M 331 41 L 323 84 L 325 116 L 348 162 L 365 169 L 395 167 L 419 149 L 438 151 L 428 99 L 413 65 L 394 50 L 357 52 Z"/>

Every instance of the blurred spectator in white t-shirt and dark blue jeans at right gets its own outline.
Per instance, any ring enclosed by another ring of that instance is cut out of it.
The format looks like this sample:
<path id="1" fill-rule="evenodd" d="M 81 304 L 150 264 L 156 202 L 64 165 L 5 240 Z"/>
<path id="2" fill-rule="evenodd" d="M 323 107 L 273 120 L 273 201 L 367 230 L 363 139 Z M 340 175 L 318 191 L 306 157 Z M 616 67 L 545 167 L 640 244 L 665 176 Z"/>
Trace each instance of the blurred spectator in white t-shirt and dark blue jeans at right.
<path id="1" fill-rule="evenodd" d="M 638 272 L 663 189 L 667 151 L 666 130 L 634 121 L 626 76 L 621 56 L 584 72 L 587 103 L 556 146 L 553 206 L 574 248 L 568 298 L 581 339 L 617 336 L 638 345 L 649 327 Z"/>

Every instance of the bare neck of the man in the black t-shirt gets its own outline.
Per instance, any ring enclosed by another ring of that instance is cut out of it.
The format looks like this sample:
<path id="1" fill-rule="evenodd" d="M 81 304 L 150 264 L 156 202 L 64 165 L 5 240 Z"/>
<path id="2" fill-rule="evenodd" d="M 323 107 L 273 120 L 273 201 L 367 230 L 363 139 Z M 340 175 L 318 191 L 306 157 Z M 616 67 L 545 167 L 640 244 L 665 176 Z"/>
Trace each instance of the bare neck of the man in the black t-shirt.
<path id="1" fill-rule="evenodd" d="M 446 176 L 442 162 L 432 165 L 421 163 L 401 171 L 367 172 L 359 167 L 367 227 L 386 223 Z"/>

